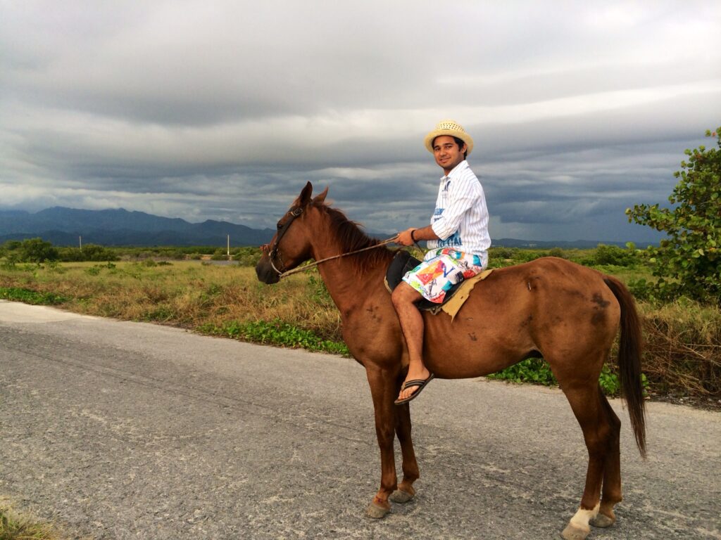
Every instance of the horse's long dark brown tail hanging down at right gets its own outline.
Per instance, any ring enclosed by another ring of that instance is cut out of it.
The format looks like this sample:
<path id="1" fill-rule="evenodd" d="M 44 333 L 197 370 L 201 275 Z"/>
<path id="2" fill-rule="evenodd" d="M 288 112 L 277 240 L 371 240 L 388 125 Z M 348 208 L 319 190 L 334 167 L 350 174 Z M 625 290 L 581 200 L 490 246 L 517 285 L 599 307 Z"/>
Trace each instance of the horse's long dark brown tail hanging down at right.
<path id="1" fill-rule="evenodd" d="M 621 339 L 619 341 L 619 376 L 629 408 L 629 418 L 642 457 L 646 456 L 646 420 L 641 381 L 641 322 L 633 297 L 622 282 L 611 276 L 603 281 L 621 305 Z"/>

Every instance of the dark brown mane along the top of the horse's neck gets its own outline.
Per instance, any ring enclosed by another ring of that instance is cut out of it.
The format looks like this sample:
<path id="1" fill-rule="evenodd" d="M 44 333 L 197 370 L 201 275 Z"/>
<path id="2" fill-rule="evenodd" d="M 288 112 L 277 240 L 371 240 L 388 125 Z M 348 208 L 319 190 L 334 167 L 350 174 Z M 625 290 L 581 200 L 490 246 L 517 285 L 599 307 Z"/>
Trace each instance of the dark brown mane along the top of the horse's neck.
<path id="1" fill-rule="evenodd" d="M 378 246 L 380 243 L 380 240 L 371 238 L 366 235 L 366 233 L 363 233 L 358 223 L 349 220 L 348 217 L 340 210 L 337 210 L 337 208 L 329 207 L 324 203 L 316 203 L 314 206 L 328 216 L 329 230 L 337 238 L 342 253 Z M 363 274 L 376 269 L 381 264 L 387 266 L 393 258 L 393 252 L 385 246 L 379 246 L 375 249 L 355 253 L 350 257 L 355 264 L 355 271 Z"/>

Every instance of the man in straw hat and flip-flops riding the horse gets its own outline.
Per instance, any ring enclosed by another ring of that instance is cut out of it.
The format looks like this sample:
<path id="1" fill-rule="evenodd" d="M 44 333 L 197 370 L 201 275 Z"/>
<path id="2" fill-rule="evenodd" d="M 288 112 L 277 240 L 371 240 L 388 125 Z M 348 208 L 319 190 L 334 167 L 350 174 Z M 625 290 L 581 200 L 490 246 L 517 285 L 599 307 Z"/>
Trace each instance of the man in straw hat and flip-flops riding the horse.
<path id="1" fill-rule="evenodd" d="M 443 120 L 426 135 L 425 148 L 433 153 L 443 176 L 430 225 L 398 234 L 401 246 L 428 240 L 429 251 L 392 294 L 410 359 L 397 405 L 414 399 L 433 379 L 423 364 L 423 316 L 415 302 L 422 297 L 443 302 L 454 284 L 486 268 L 491 244 L 483 188 L 466 161 L 473 150 L 471 136 L 457 122 Z"/>

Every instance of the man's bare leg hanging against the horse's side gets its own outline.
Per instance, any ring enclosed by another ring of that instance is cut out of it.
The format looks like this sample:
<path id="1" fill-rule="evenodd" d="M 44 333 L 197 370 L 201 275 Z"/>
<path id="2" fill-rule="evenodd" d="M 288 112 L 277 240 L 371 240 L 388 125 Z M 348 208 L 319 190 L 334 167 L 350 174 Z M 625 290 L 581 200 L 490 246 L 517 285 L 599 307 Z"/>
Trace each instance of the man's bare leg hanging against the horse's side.
<path id="1" fill-rule="evenodd" d="M 423 330 L 425 329 L 423 315 L 415 307 L 415 302 L 418 302 L 421 298 L 423 297 L 420 292 L 417 292 L 406 282 L 400 282 L 391 296 L 408 346 L 410 365 L 406 376 L 407 381 L 411 379 L 428 379 L 430 377 L 430 372 L 423 364 Z M 402 400 L 410 397 L 417 390 L 418 387 L 401 390 L 398 399 Z"/>

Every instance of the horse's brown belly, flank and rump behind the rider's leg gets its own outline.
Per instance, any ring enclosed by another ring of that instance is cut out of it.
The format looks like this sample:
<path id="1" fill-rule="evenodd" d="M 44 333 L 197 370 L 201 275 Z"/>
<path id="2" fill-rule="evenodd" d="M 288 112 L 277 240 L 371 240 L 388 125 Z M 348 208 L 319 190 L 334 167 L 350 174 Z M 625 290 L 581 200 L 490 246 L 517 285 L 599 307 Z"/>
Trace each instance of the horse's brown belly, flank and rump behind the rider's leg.
<path id="1" fill-rule="evenodd" d="M 425 317 L 430 364 L 442 377 L 476 377 L 528 356 L 552 362 L 609 348 L 620 310 L 603 277 L 555 257 L 493 271 L 453 322 L 446 315 Z"/>

